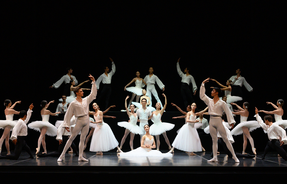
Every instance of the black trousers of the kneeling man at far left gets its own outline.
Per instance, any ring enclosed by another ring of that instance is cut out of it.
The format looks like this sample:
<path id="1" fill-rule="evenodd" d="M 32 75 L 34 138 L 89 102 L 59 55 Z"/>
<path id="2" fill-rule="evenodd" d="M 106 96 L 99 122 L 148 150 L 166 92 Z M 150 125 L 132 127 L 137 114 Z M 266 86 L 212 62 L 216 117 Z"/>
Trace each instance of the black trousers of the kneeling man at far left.
<path id="1" fill-rule="evenodd" d="M 29 153 L 30 157 L 33 157 L 32 153 L 31 153 L 31 149 L 26 144 L 25 137 L 26 136 L 18 136 L 17 137 L 17 143 L 15 145 L 14 155 L 0 156 L 0 159 L 18 160 L 22 149 L 26 150 L 27 153 Z"/>

